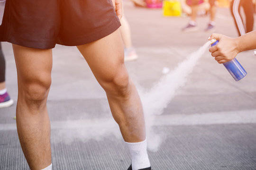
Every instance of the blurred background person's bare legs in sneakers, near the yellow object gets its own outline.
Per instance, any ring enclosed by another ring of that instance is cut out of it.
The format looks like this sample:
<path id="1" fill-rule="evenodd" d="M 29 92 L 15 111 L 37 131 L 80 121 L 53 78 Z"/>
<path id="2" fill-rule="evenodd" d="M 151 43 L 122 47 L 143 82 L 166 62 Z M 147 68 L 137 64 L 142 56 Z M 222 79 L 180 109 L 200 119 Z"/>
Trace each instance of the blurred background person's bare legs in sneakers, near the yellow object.
<path id="1" fill-rule="evenodd" d="M 214 31 L 215 28 L 215 13 L 216 5 L 215 0 L 187 0 L 186 3 L 191 7 L 191 17 L 187 26 L 182 28 L 184 32 L 197 31 L 199 28 L 197 26 L 196 18 L 198 12 L 204 8 L 205 11 L 210 12 L 210 22 L 208 23 L 205 31 Z"/>

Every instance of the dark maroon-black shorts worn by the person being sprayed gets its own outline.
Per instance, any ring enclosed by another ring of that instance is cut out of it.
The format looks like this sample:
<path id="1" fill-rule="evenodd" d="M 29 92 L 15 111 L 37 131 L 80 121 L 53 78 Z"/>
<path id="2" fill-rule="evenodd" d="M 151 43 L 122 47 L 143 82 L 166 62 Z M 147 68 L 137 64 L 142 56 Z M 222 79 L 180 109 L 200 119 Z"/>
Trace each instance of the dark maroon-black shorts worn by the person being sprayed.
<path id="1" fill-rule="evenodd" d="M 0 41 L 37 49 L 77 46 L 119 26 L 111 0 L 6 0 Z"/>

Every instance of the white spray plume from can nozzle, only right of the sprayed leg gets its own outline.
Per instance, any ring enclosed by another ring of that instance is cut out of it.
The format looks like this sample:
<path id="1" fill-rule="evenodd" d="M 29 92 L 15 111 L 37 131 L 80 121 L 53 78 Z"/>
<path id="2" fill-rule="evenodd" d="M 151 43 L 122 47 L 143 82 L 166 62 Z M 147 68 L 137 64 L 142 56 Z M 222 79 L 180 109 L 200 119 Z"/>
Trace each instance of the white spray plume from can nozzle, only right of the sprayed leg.
<path id="1" fill-rule="evenodd" d="M 165 136 L 161 136 L 161 134 L 157 135 L 152 129 L 155 117 L 163 113 L 168 103 L 174 98 L 178 88 L 185 84 L 187 76 L 192 72 L 209 45 L 210 42 L 206 42 L 198 51 L 193 52 L 187 59 L 181 62 L 177 68 L 163 76 L 150 91 L 141 93 L 149 150 L 153 152 L 157 151 L 165 138 Z"/>

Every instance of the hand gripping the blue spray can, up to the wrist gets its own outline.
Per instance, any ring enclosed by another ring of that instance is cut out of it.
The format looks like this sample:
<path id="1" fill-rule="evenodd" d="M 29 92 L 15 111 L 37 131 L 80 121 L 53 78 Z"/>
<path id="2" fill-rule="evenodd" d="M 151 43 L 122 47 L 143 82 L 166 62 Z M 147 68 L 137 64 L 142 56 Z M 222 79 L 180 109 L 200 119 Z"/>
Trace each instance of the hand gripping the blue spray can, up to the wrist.
<path id="1" fill-rule="evenodd" d="M 228 62 L 238 55 L 239 50 L 236 38 L 230 38 L 222 34 L 211 34 L 208 40 L 214 38 L 219 40 L 219 43 L 212 46 L 209 51 L 219 64 Z"/>

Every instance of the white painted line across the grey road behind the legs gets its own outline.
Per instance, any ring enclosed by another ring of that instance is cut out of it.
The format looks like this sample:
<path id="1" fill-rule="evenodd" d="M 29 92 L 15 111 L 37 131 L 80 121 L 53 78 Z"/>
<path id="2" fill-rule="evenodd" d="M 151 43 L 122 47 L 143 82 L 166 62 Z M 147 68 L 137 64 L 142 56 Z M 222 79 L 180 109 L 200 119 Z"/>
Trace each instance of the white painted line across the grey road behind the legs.
<path id="1" fill-rule="evenodd" d="M 148 116 L 146 116 L 147 118 Z M 150 117 L 150 116 L 149 116 Z M 192 126 L 192 125 L 219 125 L 219 124 L 247 124 L 256 123 L 256 110 L 237 110 L 211 112 L 202 114 L 175 114 L 155 116 L 153 126 Z M 52 129 L 116 129 L 114 119 L 85 119 L 51 121 Z M 16 130 L 16 124 L 0 124 L 0 131 Z"/>

